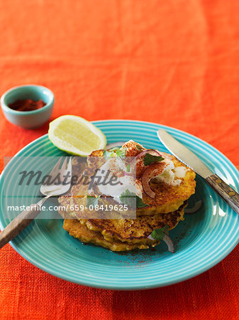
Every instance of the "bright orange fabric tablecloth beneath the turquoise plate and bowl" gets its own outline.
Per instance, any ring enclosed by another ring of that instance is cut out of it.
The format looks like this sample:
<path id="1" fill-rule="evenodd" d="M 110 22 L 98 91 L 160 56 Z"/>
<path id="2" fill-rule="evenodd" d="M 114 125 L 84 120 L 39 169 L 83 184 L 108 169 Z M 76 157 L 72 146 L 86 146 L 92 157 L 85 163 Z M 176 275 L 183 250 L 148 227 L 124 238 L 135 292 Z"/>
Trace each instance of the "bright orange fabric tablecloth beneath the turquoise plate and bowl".
<path id="1" fill-rule="evenodd" d="M 35 83 L 55 93 L 52 119 L 140 119 L 204 139 L 238 164 L 239 2 L 0 1 L 0 92 Z M 1 169 L 48 131 L 0 114 Z M 1 319 L 239 319 L 239 247 L 181 284 L 138 292 L 52 277 L 10 245 L 0 250 Z"/>

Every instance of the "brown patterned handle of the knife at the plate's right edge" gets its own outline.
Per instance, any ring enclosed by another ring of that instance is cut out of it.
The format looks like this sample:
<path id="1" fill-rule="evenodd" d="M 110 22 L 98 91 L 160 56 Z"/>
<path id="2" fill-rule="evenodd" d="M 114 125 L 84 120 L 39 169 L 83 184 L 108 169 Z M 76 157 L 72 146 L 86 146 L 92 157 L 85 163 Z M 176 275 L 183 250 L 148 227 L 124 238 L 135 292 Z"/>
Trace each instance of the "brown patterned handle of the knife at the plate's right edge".
<path id="1" fill-rule="evenodd" d="M 206 177 L 206 183 L 239 215 L 239 194 L 233 188 L 230 188 L 228 183 L 216 174 Z"/>

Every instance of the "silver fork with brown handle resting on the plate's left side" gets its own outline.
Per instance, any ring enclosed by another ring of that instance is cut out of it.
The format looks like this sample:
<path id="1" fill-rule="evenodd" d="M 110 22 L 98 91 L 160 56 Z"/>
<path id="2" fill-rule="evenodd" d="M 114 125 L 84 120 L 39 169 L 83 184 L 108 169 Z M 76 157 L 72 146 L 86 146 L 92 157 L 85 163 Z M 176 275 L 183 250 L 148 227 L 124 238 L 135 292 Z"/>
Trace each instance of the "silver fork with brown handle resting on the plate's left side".
<path id="1" fill-rule="evenodd" d="M 49 176 L 51 176 L 52 181 L 55 181 L 55 178 L 60 174 L 60 184 L 50 184 L 40 186 L 40 193 L 45 197 L 42 198 L 38 203 L 31 204 L 29 206 L 30 210 L 24 210 L 16 218 L 14 218 L 9 225 L 6 226 L 4 230 L 0 233 L 0 249 L 4 247 L 6 243 L 13 240 L 22 230 L 24 230 L 30 223 L 38 216 L 41 211 L 41 207 L 52 196 L 60 196 L 63 193 L 66 193 L 70 189 L 70 183 L 63 183 L 64 177 L 67 174 L 69 179 L 72 178 L 72 159 L 67 161 L 67 157 L 62 163 L 62 157 L 57 161 L 52 171 L 50 171 Z"/>

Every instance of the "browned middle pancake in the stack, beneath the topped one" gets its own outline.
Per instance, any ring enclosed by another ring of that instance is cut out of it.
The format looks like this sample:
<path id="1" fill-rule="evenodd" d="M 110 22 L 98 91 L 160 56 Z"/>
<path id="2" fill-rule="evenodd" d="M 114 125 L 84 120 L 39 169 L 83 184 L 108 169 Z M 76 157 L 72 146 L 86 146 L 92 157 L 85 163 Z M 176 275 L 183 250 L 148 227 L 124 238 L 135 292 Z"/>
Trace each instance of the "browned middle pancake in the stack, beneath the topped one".
<path id="1" fill-rule="evenodd" d="M 157 228 L 163 228 L 165 225 L 169 226 L 169 230 L 175 228 L 180 220 L 184 220 L 186 206 L 187 201 L 172 213 L 139 215 L 136 219 L 79 219 L 79 221 L 87 225 L 90 230 L 101 233 L 108 241 L 137 243 L 138 240 L 147 239 Z"/>

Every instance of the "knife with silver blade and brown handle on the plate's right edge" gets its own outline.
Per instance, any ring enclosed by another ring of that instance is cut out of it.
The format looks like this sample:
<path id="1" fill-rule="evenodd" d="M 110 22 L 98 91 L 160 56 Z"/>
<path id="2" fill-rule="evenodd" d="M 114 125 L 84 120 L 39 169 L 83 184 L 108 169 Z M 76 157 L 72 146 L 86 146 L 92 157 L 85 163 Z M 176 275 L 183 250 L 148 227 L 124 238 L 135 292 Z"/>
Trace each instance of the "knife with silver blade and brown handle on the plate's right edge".
<path id="1" fill-rule="evenodd" d="M 165 130 L 158 130 L 157 137 L 160 138 L 162 144 L 164 144 L 179 161 L 186 164 L 189 168 L 194 170 L 196 174 L 203 177 L 206 183 L 208 183 L 209 186 L 211 186 L 211 188 L 213 188 L 213 190 L 216 191 L 239 215 L 239 194 L 233 190 L 228 183 L 223 181 L 218 175 L 213 174 L 196 154 L 187 149 L 183 144 L 180 144 L 180 142 L 174 139 L 171 134 L 167 133 Z"/>

